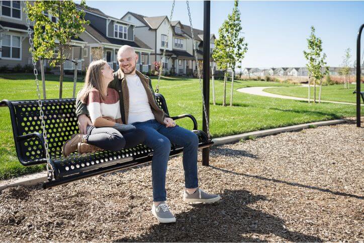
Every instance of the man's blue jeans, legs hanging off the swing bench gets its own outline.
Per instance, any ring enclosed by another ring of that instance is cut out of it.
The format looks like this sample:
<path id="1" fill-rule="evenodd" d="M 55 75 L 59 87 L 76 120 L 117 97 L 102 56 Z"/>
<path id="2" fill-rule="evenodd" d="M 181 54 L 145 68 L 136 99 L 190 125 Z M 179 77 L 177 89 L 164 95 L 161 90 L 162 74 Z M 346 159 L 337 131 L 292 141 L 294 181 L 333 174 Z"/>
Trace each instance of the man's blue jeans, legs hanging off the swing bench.
<path id="1" fill-rule="evenodd" d="M 144 144 L 154 150 L 152 159 L 153 201 L 166 200 L 165 175 L 171 142 L 184 147 L 183 166 L 186 188 L 199 186 L 197 176 L 199 139 L 196 134 L 178 126 L 166 128 L 165 125 L 158 123 L 155 119 L 132 125 L 145 132 Z"/>

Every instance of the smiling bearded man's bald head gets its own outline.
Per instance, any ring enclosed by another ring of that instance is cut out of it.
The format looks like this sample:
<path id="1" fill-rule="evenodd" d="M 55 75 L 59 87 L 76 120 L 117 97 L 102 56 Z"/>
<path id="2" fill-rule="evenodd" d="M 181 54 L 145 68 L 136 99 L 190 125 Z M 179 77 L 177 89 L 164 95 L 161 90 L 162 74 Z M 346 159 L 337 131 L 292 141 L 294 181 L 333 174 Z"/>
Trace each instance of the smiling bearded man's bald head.
<path id="1" fill-rule="evenodd" d="M 118 62 L 123 73 L 135 74 L 138 55 L 135 53 L 134 48 L 128 45 L 120 47 L 118 51 Z"/>

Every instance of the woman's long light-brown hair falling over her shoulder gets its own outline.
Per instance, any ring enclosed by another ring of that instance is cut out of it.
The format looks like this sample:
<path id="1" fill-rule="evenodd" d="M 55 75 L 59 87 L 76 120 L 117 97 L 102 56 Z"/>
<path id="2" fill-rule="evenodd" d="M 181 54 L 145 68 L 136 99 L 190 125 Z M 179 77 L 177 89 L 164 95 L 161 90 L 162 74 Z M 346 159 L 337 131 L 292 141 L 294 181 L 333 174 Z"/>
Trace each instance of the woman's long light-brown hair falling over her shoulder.
<path id="1" fill-rule="evenodd" d="M 84 78 L 83 88 L 78 92 L 77 99 L 86 104 L 88 99 L 88 93 L 96 88 L 100 91 L 101 97 L 105 99 L 105 87 L 103 85 L 103 74 L 101 70 L 107 62 L 105 60 L 93 61 L 89 64 Z"/>

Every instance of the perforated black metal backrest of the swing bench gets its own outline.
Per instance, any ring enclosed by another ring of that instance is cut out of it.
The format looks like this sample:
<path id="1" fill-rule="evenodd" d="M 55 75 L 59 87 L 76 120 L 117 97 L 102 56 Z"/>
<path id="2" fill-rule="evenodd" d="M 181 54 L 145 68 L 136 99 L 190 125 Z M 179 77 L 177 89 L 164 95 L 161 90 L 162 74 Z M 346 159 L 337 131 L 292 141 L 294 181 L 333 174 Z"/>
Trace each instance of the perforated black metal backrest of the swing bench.
<path id="1" fill-rule="evenodd" d="M 161 94 L 156 94 L 156 101 L 164 112 L 168 113 L 167 105 Z M 44 158 L 42 141 L 33 138 L 17 141 L 18 136 L 31 133 L 42 134 L 39 105 L 37 100 L 11 101 L 11 119 L 18 157 L 23 162 Z M 75 114 L 75 99 L 47 99 L 42 101 L 44 120 L 50 158 L 62 157 L 61 148 L 71 135 L 78 133 Z M 18 149 L 19 148 L 19 149 Z"/>

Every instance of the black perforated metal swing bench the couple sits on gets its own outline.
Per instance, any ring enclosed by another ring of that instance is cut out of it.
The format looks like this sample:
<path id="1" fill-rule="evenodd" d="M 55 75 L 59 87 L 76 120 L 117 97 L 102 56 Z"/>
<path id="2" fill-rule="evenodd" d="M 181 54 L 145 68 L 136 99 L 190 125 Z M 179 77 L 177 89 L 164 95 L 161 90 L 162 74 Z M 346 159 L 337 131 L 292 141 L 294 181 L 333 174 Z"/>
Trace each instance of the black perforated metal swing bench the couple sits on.
<path id="1" fill-rule="evenodd" d="M 165 113 L 169 114 L 164 97 L 156 93 L 156 100 Z M 44 120 L 46 124 L 50 163 L 54 169 L 54 179 L 43 184 L 44 188 L 66 184 L 71 181 L 117 171 L 150 162 L 153 150 L 138 145 L 132 149 L 119 152 L 102 151 L 94 154 L 71 154 L 62 157 L 63 143 L 72 134 L 78 133 L 75 114 L 75 99 L 42 100 Z M 0 106 L 8 105 L 13 126 L 13 134 L 17 156 L 25 166 L 46 164 L 44 139 L 37 100 L 9 101 L 2 100 Z M 172 117 L 180 119 L 189 117 L 194 123 L 193 132 L 199 137 L 199 148 L 213 144 L 203 131 L 197 130 L 197 121 L 190 114 Z M 170 156 L 183 152 L 183 148 L 171 145 Z"/>

